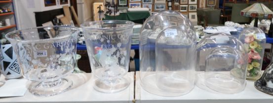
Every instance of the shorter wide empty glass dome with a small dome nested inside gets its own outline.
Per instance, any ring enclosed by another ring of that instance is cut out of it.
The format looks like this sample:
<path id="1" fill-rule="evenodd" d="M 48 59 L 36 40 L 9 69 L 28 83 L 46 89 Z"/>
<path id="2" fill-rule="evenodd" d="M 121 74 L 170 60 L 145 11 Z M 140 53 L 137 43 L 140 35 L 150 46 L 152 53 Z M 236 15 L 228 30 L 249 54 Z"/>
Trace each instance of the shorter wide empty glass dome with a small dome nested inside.
<path id="1" fill-rule="evenodd" d="M 215 33 L 204 37 L 196 49 L 197 62 L 204 62 L 197 66 L 205 70 L 197 74 L 198 87 L 203 85 L 212 91 L 228 94 L 244 90 L 247 52 L 237 38 L 226 33 Z"/>

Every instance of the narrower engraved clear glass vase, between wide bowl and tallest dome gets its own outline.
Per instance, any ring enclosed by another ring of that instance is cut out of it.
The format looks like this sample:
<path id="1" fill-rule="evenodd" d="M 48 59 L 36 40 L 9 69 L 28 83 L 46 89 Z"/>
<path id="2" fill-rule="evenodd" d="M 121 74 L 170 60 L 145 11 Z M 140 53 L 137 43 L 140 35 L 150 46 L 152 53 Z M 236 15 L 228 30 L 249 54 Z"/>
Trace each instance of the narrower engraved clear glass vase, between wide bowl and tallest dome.
<path id="1" fill-rule="evenodd" d="M 97 91 L 115 93 L 128 87 L 123 77 L 129 68 L 133 26 L 133 22 L 118 20 L 81 25 Z"/>

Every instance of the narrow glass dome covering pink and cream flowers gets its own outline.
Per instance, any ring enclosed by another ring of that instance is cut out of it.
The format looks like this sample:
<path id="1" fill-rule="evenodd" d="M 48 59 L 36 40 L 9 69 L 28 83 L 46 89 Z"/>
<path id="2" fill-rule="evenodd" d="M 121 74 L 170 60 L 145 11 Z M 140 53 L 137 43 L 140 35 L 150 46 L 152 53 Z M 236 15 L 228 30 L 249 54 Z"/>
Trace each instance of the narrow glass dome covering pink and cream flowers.
<path id="1" fill-rule="evenodd" d="M 257 80 L 261 75 L 263 57 L 266 44 L 266 36 L 263 30 L 257 27 L 245 28 L 239 40 L 244 44 L 248 54 L 246 78 Z"/>

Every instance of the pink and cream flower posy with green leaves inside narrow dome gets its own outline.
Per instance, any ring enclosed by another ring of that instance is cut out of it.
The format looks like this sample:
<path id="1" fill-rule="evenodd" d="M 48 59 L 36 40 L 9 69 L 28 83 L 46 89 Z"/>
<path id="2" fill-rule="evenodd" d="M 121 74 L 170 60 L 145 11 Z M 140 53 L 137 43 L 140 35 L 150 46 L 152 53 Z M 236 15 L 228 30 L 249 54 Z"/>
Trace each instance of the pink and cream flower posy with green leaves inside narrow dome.
<path id="1" fill-rule="evenodd" d="M 244 39 L 246 49 L 248 50 L 247 77 L 256 77 L 261 71 L 261 53 L 262 46 L 260 40 L 256 38 L 256 34 L 249 33 Z"/>

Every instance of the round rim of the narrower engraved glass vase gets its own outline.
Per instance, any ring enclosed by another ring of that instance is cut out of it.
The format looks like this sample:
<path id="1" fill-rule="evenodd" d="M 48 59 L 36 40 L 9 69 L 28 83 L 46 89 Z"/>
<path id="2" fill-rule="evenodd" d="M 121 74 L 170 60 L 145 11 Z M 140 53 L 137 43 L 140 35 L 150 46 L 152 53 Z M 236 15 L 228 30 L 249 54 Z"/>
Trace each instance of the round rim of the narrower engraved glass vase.
<path id="1" fill-rule="evenodd" d="M 122 26 L 122 27 L 112 27 L 112 28 L 94 28 L 94 27 L 90 27 L 90 26 L 83 26 L 83 25 L 86 25 L 86 24 L 94 24 L 94 23 L 102 23 L 102 22 L 123 22 L 125 23 L 126 25 L 126 22 L 129 22 L 127 25 L 130 25 L 130 26 Z M 91 22 L 84 22 L 80 25 L 80 27 L 82 28 L 88 28 L 88 29 L 101 29 L 101 30 L 105 30 L 105 29 L 118 29 L 118 28 L 130 28 L 131 26 L 134 26 L 135 23 L 132 22 L 132 21 L 125 21 L 125 20 L 104 20 L 104 21 L 91 21 Z"/>

